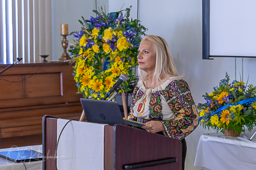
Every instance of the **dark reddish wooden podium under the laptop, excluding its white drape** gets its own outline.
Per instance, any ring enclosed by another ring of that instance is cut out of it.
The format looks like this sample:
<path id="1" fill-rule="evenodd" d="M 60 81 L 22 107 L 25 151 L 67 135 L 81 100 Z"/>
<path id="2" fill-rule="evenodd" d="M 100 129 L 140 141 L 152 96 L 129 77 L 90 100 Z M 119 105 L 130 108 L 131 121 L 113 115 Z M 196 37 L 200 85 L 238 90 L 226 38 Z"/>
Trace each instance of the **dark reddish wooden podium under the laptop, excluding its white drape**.
<path id="1" fill-rule="evenodd" d="M 56 117 L 43 118 L 43 169 L 55 170 Z M 125 125 L 104 129 L 104 169 L 182 169 L 180 140 Z"/>

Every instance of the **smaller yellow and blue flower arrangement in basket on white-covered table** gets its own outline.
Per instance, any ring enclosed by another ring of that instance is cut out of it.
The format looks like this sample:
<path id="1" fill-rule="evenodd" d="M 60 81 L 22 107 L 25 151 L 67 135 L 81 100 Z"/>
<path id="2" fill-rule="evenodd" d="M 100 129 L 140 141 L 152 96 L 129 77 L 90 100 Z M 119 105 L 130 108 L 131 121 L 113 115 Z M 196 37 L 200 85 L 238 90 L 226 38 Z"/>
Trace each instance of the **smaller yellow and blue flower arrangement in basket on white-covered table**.
<path id="1" fill-rule="evenodd" d="M 244 126 L 252 131 L 256 125 L 256 87 L 243 81 L 229 83 L 229 80 L 226 73 L 219 86 L 203 96 L 206 103 L 198 104 L 200 124 L 221 132 L 234 129 L 239 134 L 244 132 Z"/>

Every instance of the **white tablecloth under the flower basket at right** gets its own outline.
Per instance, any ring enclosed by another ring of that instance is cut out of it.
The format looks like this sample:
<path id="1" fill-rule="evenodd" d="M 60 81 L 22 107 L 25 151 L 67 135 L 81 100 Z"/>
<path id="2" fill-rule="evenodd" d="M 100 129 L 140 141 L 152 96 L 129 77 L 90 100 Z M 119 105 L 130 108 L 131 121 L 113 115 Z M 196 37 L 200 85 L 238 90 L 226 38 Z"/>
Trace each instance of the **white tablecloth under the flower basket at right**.
<path id="1" fill-rule="evenodd" d="M 212 170 L 256 169 L 256 143 L 244 135 L 225 138 L 222 133 L 203 134 L 196 148 L 194 166 Z"/>

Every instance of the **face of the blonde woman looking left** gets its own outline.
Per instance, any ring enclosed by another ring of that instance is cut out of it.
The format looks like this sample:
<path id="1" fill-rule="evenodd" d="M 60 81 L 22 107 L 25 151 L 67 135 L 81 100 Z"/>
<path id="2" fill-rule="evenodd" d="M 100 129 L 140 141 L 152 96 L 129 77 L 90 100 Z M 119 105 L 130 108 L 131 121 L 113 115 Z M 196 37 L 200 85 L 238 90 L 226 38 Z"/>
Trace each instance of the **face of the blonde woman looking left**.
<path id="1" fill-rule="evenodd" d="M 154 52 L 154 44 L 151 41 L 141 41 L 138 49 L 139 68 L 146 73 L 153 73 L 156 68 L 156 52 Z"/>

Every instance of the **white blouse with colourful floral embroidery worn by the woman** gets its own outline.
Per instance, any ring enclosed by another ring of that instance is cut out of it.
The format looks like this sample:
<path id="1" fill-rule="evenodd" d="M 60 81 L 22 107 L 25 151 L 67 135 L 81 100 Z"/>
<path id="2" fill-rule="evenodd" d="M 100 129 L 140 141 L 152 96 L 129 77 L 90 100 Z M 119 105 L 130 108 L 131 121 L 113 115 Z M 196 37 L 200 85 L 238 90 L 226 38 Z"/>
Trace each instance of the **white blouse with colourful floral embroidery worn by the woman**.
<path id="1" fill-rule="evenodd" d="M 134 88 L 129 119 L 161 120 L 164 135 L 183 139 L 198 125 L 198 113 L 188 83 L 170 77 L 154 89 L 146 89 L 140 80 Z"/>

